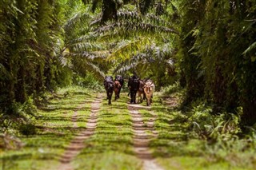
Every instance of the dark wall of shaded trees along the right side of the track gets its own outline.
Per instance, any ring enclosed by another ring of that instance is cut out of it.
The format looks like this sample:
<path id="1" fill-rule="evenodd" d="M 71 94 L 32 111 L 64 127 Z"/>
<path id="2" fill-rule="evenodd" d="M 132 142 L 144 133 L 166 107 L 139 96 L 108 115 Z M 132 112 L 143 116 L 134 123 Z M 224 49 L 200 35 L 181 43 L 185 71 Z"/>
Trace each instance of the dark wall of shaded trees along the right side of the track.
<path id="1" fill-rule="evenodd" d="M 255 1 L 186 1 L 182 6 L 179 49 L 189 74 L 187 97 L 204 95 L 214 113 L 236 113 L 242 106 L 242 125 L 253 125 Z"/>

